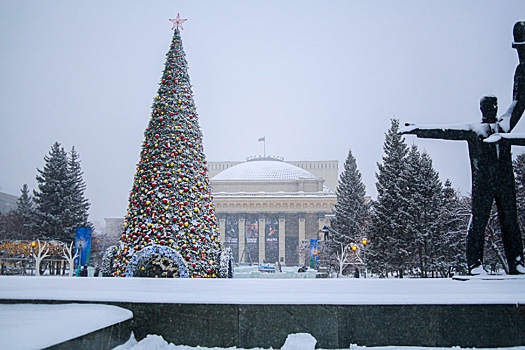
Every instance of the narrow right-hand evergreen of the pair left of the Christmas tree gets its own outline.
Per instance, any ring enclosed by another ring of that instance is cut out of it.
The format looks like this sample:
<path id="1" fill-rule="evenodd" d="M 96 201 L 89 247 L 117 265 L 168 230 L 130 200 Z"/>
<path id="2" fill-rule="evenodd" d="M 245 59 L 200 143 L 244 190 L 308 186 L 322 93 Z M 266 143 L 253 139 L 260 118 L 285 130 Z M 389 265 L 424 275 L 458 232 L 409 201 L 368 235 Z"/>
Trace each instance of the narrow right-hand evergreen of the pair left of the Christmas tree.
<path id="1" fill-rule="evenodd" d="M 73 227 L 93 227 L 89 222 L 90 203 L 84 196 L 86 184 L 80 166 L 80 156 L 75 147 L 71 148 L 68 159 L 68 171 L 71 180 L 71 226 Z"/>

